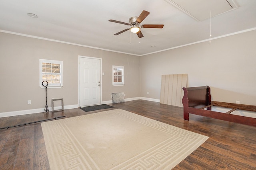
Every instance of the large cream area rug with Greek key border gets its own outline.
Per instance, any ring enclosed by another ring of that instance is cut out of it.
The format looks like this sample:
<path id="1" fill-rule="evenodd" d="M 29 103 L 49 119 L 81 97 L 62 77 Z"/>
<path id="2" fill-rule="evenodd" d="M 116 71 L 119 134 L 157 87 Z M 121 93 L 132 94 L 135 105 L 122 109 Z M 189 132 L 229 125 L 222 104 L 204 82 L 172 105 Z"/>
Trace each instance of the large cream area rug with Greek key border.
<path id="1" fill-rule="evenodd" d="M 41 125 L 51 170 L 170 170 L 208 139 L 122 109 Z"/>

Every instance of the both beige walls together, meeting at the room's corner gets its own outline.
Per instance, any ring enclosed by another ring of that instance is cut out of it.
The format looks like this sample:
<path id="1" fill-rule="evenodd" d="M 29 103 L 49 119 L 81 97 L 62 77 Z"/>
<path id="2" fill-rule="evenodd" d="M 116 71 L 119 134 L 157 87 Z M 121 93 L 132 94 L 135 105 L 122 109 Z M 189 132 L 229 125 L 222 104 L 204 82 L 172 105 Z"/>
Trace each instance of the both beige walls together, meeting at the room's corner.
<path id="1" fill-rule="evenodd" d="M 255 44 L 254 30 L 138 57 L 0 32 L 0 113 L 44 108 L 39 59 L 63 61 L 64 86 L 48 89 L 48 106 L 78 105 L 78 55 L 102 58 L 103 102 L 113 92 L 159 100 L 163 74 L 188 74 L 188 87 L 210 86 L 212 100 L 256 105 Z M 125 86 L 112 86 L 112 65 L 125 67 Z"/>

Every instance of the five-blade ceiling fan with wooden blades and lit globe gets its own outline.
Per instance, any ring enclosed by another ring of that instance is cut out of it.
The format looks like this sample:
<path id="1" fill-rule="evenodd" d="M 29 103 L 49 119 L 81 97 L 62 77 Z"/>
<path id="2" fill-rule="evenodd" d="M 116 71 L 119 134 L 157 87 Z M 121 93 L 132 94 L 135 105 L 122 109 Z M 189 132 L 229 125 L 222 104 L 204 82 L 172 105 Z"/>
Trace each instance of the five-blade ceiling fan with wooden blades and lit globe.
<path id="1" fill-rule="evenodd" d="M 122 21 L 116 21 L 116 20 L 108 20 L 108 21 L 132 26 L 132 27 L 126 28 L 126 29 L 124 29 L 124 30 L 122 30 L 118 33 L 115 33 L 114 35 L 119 35 L 120 33 L 123 33 L 123 32 L 128 31 L 130 29 L 130 31 L 132 33 L 136 33 L 139 38 L 142 38 L 144 36 L 141 33 L 140 28 L 163 28 L 164 27 L 163 24 L 143 24 L 143 25 L 140 25 L 140 23 L 148 16 L 148 14 L 149 14 L 148 11 L 142 11 L 142 13 L 140 14 L 139 17 L 136 17 L 136 16 L 131 17 L 129 19 L 129 23 L 122 22 Z"/>

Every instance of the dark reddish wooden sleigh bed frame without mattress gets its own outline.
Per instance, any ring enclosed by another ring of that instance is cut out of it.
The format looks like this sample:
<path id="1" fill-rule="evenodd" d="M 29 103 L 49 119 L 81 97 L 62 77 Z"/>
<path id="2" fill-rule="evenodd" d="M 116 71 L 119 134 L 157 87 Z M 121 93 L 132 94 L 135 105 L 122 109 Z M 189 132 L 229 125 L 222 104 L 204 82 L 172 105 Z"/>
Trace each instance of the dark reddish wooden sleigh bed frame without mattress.
<path id="1" fill-rule="evenodd" d="M 184 87 L 182 89 L 184 90 L 182 104 L 185 120 L 189 120 L 190 113 L 256 127 L 256 118 L 230 114 L 236 109 L 256 111 L 256 106 L 211 101 L 209 86 L 188 88 Z M 232 109 L 226 113 L 222 113 L 218 111 L 212 111 L 212 106 L 228 107 Z"/>

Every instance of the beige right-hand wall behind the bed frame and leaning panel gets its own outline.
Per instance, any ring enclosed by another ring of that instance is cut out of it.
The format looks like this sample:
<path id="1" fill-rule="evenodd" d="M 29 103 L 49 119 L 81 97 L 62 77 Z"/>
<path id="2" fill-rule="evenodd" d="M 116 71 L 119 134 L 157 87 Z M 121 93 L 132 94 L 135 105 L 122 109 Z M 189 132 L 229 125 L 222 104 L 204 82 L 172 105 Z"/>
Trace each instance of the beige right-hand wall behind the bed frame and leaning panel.
<path id="1" fill-rule="evenodd" d="M 161 75 L 187 73 L 212 100 L 256 105 L 256 31 L 142 56 L 140 72 L 142 97 L 160 99 Z"/>

